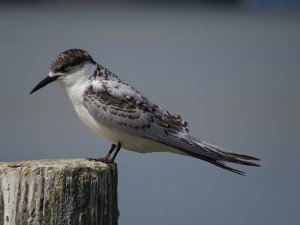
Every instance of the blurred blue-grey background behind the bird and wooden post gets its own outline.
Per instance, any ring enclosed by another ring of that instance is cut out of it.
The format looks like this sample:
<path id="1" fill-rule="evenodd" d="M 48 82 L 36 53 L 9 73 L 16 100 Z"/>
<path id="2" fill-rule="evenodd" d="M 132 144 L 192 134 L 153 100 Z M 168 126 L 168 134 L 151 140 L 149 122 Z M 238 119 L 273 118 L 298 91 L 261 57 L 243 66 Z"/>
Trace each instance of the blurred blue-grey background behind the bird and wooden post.
<path id="1" fill-rule="evenodd" d="M 261 159 L 246 177 L 170 153 L 121 151 L 119 224 L 300 223 L 297 0 L 0 2 L 1 161 L 99 157 L 110 144 L 58 85 L 52 60 L 87 50 L 202 140 Z"/>

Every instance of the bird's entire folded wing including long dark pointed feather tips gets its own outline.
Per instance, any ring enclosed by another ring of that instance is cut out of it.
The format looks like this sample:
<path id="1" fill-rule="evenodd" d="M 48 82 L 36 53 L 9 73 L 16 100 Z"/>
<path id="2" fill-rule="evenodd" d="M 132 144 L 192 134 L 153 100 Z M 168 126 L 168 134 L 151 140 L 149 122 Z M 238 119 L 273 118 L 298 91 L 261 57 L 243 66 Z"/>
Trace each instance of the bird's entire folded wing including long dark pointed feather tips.
<path id="1" fill-rule="evenodd" d="M 259 166 L 248 161 L 257 158 L 227 152 L 191 137 L 188 123 L 179 115 L 153 104 L 107 70 L 100 67 L 99 70 L 104 75 L 96 73 L 90 78 L 92 82 L 84 92 L 83 104 L 102 125 L 171 146 L 186 155 L 241 175 L 244 175 L 242 171 L 228 167 L 225 162 Z"/>

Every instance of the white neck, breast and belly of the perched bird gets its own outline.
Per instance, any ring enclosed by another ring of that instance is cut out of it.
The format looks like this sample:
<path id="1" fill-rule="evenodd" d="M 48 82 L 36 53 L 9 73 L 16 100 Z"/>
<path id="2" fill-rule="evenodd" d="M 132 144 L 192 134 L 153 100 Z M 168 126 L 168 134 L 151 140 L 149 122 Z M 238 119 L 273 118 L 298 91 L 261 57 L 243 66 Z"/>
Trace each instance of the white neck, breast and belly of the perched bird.
<path id="1" fill-rule="evenodd" d="M 96 69 L 93 64 L 86 64 L 83 68 L 72 75 L 65 76 L 58 80 L 65 94 L 70 99 L 79 119 L 97 135 L 101 136 L 105 140 L 117 144 L 120 142 L 122 148 L 146 153 L 146 152 L 161 152 L 168 151 L 177 154 L 182 154 L 175 148 L 160 144 L 155 141 L 151 141 L 146 138 L 129 135 L 119 132 L 117 130 L 107 128 L 99 121 L 96 121 L 94 117 L 82 104 L 83 93 L 86 88 L 91 85 L 89 77 L 92 76 Z"/>

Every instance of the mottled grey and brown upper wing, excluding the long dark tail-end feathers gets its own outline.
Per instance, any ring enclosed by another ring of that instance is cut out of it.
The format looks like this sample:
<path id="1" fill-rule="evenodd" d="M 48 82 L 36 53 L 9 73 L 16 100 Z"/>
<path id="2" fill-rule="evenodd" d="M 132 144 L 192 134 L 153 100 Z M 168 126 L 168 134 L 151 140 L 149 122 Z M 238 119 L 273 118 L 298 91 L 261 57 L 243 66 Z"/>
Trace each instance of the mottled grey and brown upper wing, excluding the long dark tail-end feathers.
<path id="1" fill-rule="evenodd" d="M 187 122 L 151 103 L 120 80 L 92 81 L 84 105 L 106 127 L 154 139 L 173 133 L 186 136 Z"/>

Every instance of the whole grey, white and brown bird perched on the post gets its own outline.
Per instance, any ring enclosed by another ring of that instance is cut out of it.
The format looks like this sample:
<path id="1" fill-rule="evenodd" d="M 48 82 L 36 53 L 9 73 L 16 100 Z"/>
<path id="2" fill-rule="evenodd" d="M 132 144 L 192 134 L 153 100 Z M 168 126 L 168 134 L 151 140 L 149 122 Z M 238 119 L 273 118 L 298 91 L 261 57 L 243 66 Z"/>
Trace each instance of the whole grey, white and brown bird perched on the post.
<path id="1" fill-rule="evenodd" d="M 139 153 L 171 152 L 191 156 L 236 174 L 227 163 L 260 166 L 259 160 L 201 141 L 189 134 L 188 123 L 154 104 L 133 86 L 98 64 L 82 49 L 60 53 L 46 78 L 30 92 L 57 81 L 79 119 L 111 143 L 105 157 L 91 159 L 113 163 L 121 148 Z"/>

